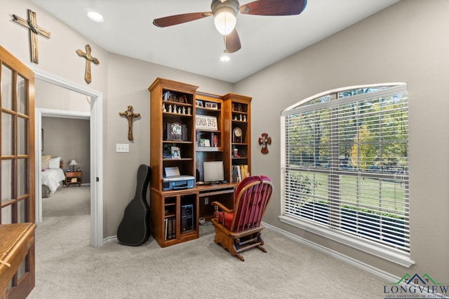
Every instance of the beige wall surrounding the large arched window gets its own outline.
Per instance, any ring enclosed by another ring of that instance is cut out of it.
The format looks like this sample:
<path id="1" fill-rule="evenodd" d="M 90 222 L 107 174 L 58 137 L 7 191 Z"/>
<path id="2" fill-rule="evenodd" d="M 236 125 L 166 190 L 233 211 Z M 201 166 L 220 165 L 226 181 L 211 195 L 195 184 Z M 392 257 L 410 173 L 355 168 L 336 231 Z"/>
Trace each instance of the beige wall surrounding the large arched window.
<path id="1" fill-rule="evenodd" d="M 449 279 L 449 1 L 400 1 L 236 84 L 253 97 L 253 173 L 277 190 L 264 221 L 402 277 Z M 351 85 L 406 82 L 410 130 L 410 269 L 279 221 L 283 109 L 319 92 Z M 257 137 L 273 138 L 262 155 Z M 432 273 L 432 274 L 430 274 Z"/>

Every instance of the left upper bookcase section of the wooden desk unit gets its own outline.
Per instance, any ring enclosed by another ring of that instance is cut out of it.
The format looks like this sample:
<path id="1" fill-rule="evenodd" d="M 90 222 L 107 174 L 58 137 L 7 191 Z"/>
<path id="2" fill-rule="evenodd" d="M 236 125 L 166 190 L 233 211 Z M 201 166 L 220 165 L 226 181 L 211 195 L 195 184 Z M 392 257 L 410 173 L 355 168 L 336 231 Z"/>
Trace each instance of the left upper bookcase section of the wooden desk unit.
<path id="1" fill-rule="evenodd" d="M 150 92 L 150 165 L 151 186 L 162 190 L 166 167 L 179 167 L 183 175 L 195 175 L 194 157 L 194 101 L 198 86 L 157 78 L 149 86 Z M 174 127 L 173 124 L 175 124 Z M 167 134 L 172 128 L 180 134 Z M 172 147 L 178 148 L 172 155 Z"/>

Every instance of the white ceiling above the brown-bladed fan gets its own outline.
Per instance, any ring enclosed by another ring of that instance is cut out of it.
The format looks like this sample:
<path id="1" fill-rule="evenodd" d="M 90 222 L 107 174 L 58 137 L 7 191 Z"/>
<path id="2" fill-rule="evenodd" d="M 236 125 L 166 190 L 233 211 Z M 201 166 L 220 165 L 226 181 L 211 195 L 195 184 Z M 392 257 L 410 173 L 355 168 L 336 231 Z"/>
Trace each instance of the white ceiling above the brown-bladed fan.
<path id="1" fill-rule="evenodd" d="M 220 62 L 225 47 L 213 17 L 165 28 L 152 24 L 154 18 L 210 11 L 210 0 L 32 1 L 109 52 L 235 83 L 399 0 L 308 0 L 300 15 L 239 14 L 241 49 L 229 54 L 229 62 Z M 91 10 L 105 22 L 89 20 Z"/>

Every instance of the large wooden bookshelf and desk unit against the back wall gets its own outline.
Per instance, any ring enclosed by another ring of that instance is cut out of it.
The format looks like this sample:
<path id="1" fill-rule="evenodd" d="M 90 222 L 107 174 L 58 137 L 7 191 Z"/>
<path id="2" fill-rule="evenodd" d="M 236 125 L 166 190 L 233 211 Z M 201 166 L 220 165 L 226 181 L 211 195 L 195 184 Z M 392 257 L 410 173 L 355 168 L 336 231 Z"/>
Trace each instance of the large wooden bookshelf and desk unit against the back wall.
<path id="1" fill-rule="evenodd" d="M 213 95 L 198 86 L 163 78 L 150 92 L 150 227 L 162 247 L 199 237 L 200 217 L 212 218 L 210 202 L 232 208 L 234 190 L 250 174 L 251 98 Z M 239 135 L 239 136 L 236 136 Z M 222 161 L 225 183 L 163 190 L 168 167 L 203 181 L 203 162 Z"/>

